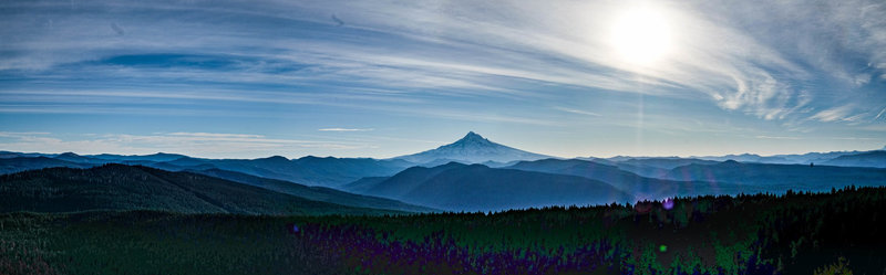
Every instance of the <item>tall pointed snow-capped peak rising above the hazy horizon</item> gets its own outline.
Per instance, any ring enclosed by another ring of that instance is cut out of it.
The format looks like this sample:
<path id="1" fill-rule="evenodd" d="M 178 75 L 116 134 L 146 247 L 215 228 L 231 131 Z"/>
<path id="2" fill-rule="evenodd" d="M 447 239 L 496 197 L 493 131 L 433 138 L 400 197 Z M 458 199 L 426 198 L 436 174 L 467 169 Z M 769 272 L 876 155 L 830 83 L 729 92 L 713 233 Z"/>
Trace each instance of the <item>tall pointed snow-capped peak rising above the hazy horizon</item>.
<path id="1" fill-rule="evenodd" d="M 528 152 L 504 145 L 499 145 L 471 131 L 462 139 L 450 145 L 437 147 L 419 154 L 400 156 L 413 163 L 429 163 L 440 161 L 459 161 L 464 163 L 482 163 L 486 161 L 511 162 L 517 160 L 546 159 L 550 156 Z"/>

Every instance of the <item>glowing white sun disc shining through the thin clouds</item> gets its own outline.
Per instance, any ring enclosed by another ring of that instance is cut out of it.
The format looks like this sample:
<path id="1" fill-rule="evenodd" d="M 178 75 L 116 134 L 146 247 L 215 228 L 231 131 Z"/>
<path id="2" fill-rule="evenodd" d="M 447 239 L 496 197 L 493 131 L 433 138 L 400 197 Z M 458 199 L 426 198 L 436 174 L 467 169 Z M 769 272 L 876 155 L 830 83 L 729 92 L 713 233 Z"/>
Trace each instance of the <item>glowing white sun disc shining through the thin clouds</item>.
<path id="1" fill-rule="evenodd" d="M 626 10 L 614 20 L 609 43 L 622 61 L 649 66 L 672 51 L 672 34 L 664 12 L 652 8 Z"/>

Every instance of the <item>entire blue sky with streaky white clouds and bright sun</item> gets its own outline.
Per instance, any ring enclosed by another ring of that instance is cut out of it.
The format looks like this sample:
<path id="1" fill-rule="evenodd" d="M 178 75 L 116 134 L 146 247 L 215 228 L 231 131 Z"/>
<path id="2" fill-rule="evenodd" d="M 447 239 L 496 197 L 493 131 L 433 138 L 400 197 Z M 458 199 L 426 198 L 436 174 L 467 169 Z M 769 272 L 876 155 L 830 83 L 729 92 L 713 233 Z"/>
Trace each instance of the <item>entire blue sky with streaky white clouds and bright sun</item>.
<path id="1" fill-rule="evenodd" d="M 886 145 L 886 2 L 0 1 L 0 150 Z"/>

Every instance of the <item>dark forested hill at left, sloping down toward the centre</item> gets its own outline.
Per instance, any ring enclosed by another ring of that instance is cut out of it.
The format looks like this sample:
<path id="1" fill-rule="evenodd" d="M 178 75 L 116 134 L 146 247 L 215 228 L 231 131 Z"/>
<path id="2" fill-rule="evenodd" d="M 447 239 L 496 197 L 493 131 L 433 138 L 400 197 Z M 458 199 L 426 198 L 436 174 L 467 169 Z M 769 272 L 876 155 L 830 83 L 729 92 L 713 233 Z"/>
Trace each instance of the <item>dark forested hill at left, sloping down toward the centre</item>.
<path id="1" fill-rule="evenodd" d="M 0 212 L 163 210 L 183 213 L 373 214 L 190 172 L 105 165 L 0 176 Z"/>

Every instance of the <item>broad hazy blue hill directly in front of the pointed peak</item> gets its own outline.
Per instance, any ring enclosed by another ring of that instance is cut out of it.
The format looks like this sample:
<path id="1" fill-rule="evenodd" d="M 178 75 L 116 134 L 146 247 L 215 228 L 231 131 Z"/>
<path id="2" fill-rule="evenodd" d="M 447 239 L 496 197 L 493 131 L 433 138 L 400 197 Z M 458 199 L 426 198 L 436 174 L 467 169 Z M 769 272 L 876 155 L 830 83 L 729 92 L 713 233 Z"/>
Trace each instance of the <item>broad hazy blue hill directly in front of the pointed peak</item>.
<path id="1" fill-rule="evenodd" d="M 630 201 L 605 182 L 575 176 L 451 162 L 413 167 L 385 180 L 348 184 L 364 194 L 450 211 L 501 211 Z"/>

